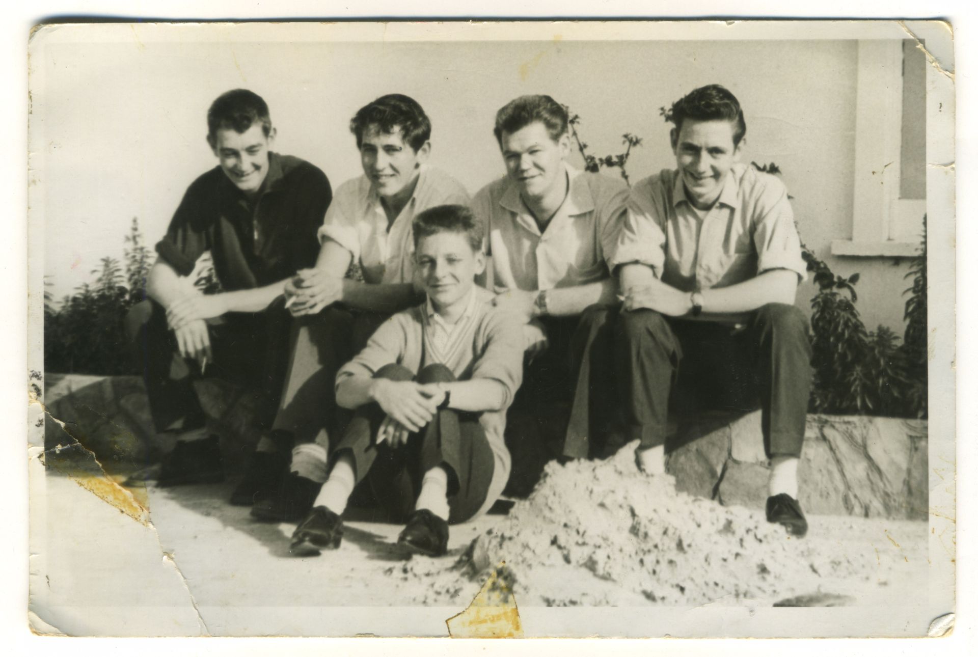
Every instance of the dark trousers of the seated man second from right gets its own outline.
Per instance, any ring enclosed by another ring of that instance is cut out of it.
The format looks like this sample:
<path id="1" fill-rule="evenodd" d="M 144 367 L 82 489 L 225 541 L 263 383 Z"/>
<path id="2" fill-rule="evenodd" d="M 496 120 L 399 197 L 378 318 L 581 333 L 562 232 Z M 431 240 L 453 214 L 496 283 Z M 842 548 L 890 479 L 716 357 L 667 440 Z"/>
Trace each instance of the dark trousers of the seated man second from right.
<path id="1" fill-rule="evenodd" d="M 524 369 L 510 410 L 510 416 L 519 416 L 512 433 L 532 417 L 538 435 L 556 431 L 563 456 L 599 454 L 600 437 L 609 429 L 616 408 L 612 339 L 617 313 L 617 309 L 591 306 L 577 316 L 540 318 L 548 346 Z M 526 436 L 511 435 L 511 440 L 526 440 Z M 513 449 L 518 454 L 520 446 Z"/>

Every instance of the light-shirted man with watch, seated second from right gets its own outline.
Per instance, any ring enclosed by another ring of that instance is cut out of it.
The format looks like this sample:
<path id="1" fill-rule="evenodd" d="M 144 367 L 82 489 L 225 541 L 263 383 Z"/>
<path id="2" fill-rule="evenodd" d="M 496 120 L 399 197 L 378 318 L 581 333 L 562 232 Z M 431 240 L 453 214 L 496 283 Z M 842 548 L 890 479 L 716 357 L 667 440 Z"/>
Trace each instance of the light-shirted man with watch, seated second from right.
<path id="1" fill-rule="evenodd" d="M 483 188 L 473 212 L 487 226 L 494 304 L 525 323 L 530 348 L 511 414 L 559 418 L 559 451 L 600 454 L 614 407 L 609 317 L 617 284 L 606 259 L 617 243 L 628 188 L 621 180 L 571 167 L 568 117 L 550 96 L 522 96 L 496 115 L 507 175 Z M 564 430 L 565 427 L 565 430 Z M 511 440 L 524 441 L 522 436 Z M 513 446 L 515 447 L 515 446 Z"/>

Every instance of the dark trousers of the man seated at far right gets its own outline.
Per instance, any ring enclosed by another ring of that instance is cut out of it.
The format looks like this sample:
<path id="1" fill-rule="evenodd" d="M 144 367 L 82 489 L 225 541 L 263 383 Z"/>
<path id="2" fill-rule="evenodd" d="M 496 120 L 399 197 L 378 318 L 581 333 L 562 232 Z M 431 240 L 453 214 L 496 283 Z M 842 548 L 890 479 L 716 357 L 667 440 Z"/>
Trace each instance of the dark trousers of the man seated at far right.
<path id="1" fill-rule="evenodd" d="M 768 458 L 801 455 L 812 352 L 808 322 L 794 306 L 762 306 L 739 329 L 645 309 L 623 312 L 615 342 L 628 438 L 642 448 L 665 442 L 671 393 L 682 416 L 750 410 L 739 400 L 744 390 L 756 390 Z"/>

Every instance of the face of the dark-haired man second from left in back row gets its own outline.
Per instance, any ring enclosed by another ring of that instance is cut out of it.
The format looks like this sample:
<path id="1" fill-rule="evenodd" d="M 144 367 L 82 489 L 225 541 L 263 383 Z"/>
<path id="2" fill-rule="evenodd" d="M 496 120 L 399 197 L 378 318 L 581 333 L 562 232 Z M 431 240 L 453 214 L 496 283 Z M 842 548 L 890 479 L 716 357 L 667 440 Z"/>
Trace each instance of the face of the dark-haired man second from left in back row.
<path id="1" fill-rule="evenodd" d="M 398 126 L 392 132 L 384 132 L 371 125 L 364 130 L 360 142 L 360 163 L 378 194 L 394 197 L 414 182 L 430 149 L 428 142 L 418 151 L 405 144 L 404 132 Z"/>

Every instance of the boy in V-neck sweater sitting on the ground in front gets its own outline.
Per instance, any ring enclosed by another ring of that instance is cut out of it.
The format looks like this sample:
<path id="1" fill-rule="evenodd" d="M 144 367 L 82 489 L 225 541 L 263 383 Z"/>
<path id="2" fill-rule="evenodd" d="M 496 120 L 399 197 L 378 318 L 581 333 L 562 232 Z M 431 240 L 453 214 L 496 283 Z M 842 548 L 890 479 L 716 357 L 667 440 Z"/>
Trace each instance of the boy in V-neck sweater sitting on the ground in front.
<path id="1" fill-rule="evenodd" d="M 356 414 L 338 442 L 293 554 L 339 547 L 354 486 L 406 518 L 398 543 L 427 555 L 448 547 L 448 525 L 484 513 L 510 473 L 503 432 L 522 378 L 523 337 L 510 313 L 481 303 L 484 228 L 462 205 L 413 223 L 425 302 L 387 320 L 336 375 L 336 403 Z"/>

